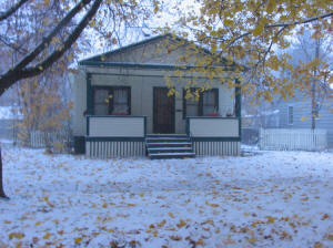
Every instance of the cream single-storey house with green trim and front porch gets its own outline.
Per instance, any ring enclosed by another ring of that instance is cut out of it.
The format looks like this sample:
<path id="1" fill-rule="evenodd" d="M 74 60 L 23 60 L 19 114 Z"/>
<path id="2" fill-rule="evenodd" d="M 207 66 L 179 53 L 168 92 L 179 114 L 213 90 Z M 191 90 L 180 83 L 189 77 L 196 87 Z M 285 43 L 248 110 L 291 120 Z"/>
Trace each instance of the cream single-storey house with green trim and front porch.
<path id="1" fill-rule="evenodd" d="M 186 42 L 169 49 L 178 40 L 160 35 L 80 62 L 72 78 L 78 153 L 152 158 L 240 154 L 240 90 L 214 79 L 199 101 L 186 100 L 186 83 L 195 79 L 200 87 L 208 79 L 191 62 L 175 66 L 189 49 Z M 203 53 L 199 55 L 209 54 Z M 235 66 L 214 65 L 225 75 Z M 184 75 L 175 75 L 176 70 Z M 178 96 L 168 95 L 165 76 Z"/>

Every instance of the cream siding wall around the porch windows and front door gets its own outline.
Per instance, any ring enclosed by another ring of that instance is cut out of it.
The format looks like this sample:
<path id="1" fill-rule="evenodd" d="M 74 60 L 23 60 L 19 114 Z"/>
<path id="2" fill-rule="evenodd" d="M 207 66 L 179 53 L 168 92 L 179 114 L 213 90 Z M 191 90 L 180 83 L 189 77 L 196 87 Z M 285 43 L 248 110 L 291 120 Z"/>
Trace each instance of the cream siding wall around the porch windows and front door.
<path id="1" fill-rule="evenodd" d="M 185 133 L 185 120 L 183 113 L 178 110 L 183 108 L 182 90 L 191 76 L 180 80 L 173 75 L 172 71 L 143 70 L 124 68 L 85 68 L 87 73 L 91 73 L 91 84 L 109 86 L 130 86 L 131 87 L 131 115 L 147 116 L 147 133 L 152 133 L 153 128 L 153 87 L 167 86 L 164 75 L 170 75 L 174 82 L 179 96 L 175 97 L 175 133 Z M 205 82 L 205 79 L 196 81 Z M 228 89 L 226 84 L 215 82 L 212 87 L 219 89 L 219 110 L 221 116 L 234 108 L 234 90 Z M 79 73 L 74 80 L 74 135 L 85 135 L 85 117 L 83 112 L 87 110 L 87 80 L 84 73 Z"/>

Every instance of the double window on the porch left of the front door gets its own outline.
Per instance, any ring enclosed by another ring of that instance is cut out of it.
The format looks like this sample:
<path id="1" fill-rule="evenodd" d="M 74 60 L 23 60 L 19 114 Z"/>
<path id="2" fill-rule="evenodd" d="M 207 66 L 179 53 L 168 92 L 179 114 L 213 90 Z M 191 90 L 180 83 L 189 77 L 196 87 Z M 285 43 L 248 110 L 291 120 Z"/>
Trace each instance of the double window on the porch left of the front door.
<path id="1" fill-rule="evenodd" d="M 94 115 L 129 115 L 131 114 L 131 87 L 129 86 L 94 86 Z"/>

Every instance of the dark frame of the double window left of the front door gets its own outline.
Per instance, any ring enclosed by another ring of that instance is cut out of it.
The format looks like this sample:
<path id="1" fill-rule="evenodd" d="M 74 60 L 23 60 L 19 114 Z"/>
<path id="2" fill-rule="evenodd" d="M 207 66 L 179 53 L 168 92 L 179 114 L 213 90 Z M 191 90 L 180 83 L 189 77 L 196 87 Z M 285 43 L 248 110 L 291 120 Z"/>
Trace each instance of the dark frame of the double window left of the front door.
<path id="1" fill-rule="evenodd" d="M 128 114 L 131 115 L 131 86 L 105 86 L 105 85 L 93 85 L 92 86 L 92 115 L 95 115 L 94 113 L 94 106 L 95 106 L 95 90 L 108 90 L 108 95 L 114 95 L 114 90 L 127 90 L 128 92 Z M 109 103 L 108 103 L 108 114 L 107 115 L 112 115 L 113 111 L 113 97 L 109 97 Z"/>

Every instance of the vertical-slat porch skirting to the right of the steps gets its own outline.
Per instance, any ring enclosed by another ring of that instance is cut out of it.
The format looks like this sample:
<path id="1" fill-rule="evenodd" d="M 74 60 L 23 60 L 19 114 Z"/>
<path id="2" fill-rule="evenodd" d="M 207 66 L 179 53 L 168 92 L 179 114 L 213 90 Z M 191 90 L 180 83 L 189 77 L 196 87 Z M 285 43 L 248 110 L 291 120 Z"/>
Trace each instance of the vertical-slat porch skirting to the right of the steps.
<path id="1" fill-rule="evenodd" d="M 196 156 L 239 156 L 240 142 L 193 142 Z"/>

